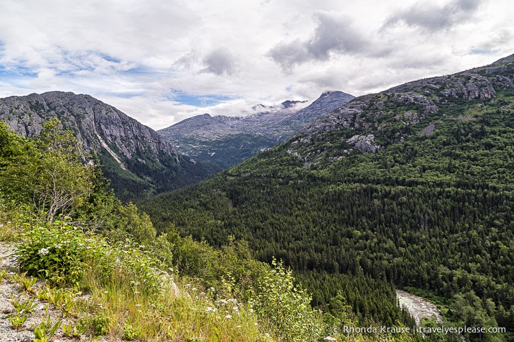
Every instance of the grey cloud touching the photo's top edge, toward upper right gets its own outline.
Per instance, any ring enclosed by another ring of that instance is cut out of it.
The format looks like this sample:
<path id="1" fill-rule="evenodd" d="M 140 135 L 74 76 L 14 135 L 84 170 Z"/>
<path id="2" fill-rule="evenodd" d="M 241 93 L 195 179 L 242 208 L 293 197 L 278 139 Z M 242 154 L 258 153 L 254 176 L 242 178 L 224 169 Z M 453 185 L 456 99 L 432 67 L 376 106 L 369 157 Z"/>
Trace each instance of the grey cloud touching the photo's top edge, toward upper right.
<path id="1" fill-rule="evenodd" d="M 471 20 L 480 3 L 480 0 L 458 0 L 438 5 L 432 0 L 418 1 L 410 8 L 391 15 L 384 23 L 384 28 L 404 23 L 429 32 L 448 30 Z"/>

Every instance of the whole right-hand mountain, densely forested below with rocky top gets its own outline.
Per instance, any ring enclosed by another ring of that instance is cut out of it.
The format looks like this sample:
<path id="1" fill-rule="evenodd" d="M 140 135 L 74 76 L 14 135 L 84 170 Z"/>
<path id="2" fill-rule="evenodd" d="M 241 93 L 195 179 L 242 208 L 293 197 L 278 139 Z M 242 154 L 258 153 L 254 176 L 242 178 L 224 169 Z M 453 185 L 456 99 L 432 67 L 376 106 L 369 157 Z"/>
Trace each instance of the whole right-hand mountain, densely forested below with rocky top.
<path id="1" fill-rule="evenodd" d="M 142 207 L 162 231 L 244 238 L 259 260 L 284 260 L 323 308 L 343 298 L 353 317 L 387 326 L 391 308 L 363 292 L 387 290 L 372 279 L 430 296 L 445 326 L 500 326 L 487 339 L 511 341 L 513 141 L 511 55 L 355 98 Z"/>

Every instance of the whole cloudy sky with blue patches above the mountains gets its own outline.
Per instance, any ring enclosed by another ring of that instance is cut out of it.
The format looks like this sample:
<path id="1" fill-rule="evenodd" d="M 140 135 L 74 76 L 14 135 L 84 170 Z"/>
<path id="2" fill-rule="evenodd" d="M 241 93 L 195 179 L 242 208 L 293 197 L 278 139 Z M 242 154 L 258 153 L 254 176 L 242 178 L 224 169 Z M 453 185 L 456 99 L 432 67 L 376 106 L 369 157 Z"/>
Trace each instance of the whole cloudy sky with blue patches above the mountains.
<path id="1" fill-rule="evenodd" d="M 514 53 L 511 0 L 0 0 L 0 97 L 90 94 L 154 129 L 359 96 Z"/>

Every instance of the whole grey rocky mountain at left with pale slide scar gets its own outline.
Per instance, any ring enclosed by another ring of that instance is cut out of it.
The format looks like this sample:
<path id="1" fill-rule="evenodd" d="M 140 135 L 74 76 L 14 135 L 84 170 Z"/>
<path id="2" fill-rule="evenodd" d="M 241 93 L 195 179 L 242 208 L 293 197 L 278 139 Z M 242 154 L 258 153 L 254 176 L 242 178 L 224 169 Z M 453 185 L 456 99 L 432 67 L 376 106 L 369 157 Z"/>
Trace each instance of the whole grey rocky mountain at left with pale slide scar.
<path id="1" fill-rule="evenodd" d="M 153 129 L 91 96 L 47 92 L 0 99 L 0 120 L 21 135 L 38 134 L 42 122 L 54 116 L 98 155 L 122 200 L 176 189 L 212 173 L 177 153 Z"/>

